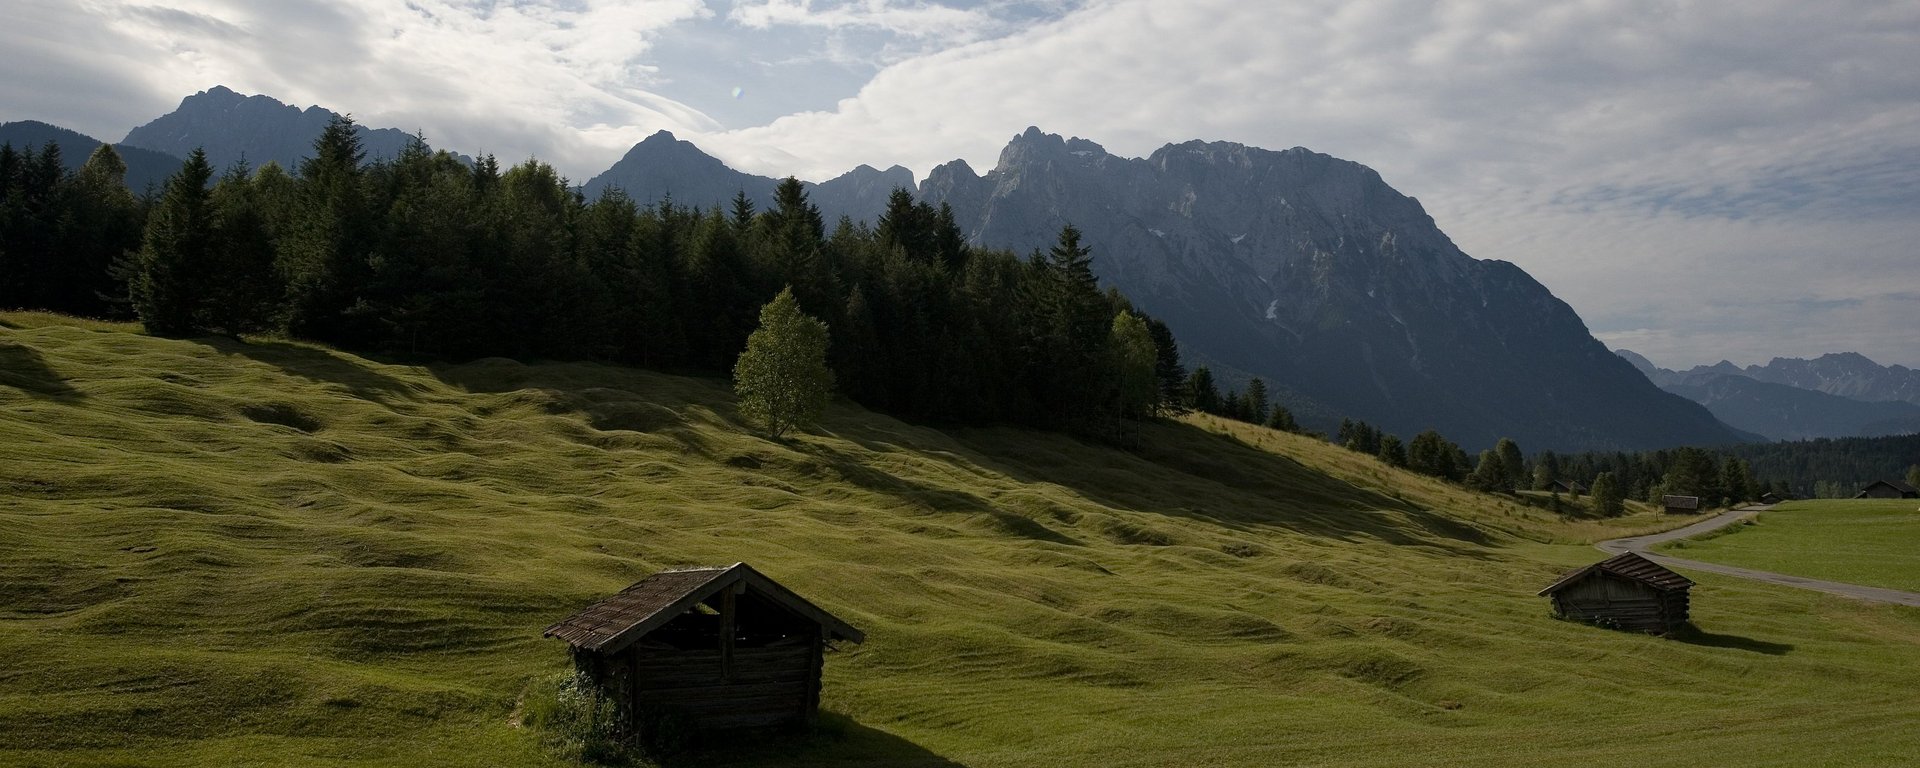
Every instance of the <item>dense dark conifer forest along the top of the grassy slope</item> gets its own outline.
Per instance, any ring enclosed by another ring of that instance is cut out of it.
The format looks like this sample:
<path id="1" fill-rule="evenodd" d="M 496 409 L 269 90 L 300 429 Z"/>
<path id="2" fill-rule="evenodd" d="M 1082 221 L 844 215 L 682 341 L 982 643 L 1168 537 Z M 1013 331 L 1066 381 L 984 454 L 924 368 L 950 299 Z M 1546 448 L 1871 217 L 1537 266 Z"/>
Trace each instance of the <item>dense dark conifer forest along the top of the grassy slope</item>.
<path id="1" fill-rule="evenodd" d="M 102 146 L 0 148 L 0 305 L 154 334 L 288 334 L 407 359 L 599 359 L 724 374 L 791 288 L 828 324 L 839 392 L 899 415 L 1108 432 L 1185 392 L 1165 324 L 1102 292 L 1071 227 L 1048 252 L 972 248 L 897 190 L 872 225 L 586 200 L 553 167 L 415 140 L 367 161 L 334 121 L 298 169 L 194 152 L 134 198 Z"/>

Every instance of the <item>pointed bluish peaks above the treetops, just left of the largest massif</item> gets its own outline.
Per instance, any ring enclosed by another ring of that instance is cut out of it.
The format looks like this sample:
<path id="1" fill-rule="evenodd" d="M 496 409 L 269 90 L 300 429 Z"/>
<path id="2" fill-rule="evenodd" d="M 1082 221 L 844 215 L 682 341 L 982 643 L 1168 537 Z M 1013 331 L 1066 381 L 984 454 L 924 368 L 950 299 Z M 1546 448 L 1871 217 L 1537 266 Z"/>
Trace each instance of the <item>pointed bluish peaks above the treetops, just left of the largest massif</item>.
<path id="1" fill-rule="evenodd" d="M 730 169 L 691 142 L 674 138 L 660 131 L 647 140 L 634 144 L 618 163 L 589 179 L 588 200 L 599 198 L 609 188 L 618 186 L 639 204 L 655 204 L 672 198 L 676 205 L 728 209 L 733 196 L 747 192 L 755 209 L 764 211 L 774 205 L 774 186 L 780 179 L 756 177 Z M 897 188 L 914 188 L 914 173 L 904 167 L 876 171 L 860 165 L 837 179 L 806 184 L 806 198 L 820 207 L 831 230 L 839 219 L 872 221 L 887 207 L 887 196 Z"/>

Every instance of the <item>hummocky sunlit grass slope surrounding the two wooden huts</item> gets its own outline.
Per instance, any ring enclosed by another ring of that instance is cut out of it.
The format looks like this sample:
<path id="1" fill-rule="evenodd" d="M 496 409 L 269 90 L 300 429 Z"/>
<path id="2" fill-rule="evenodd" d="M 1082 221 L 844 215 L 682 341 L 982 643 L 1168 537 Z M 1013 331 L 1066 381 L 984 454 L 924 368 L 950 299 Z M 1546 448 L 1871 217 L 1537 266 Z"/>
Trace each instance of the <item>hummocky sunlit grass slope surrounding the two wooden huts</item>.
<path id="1" fill-rule="evenodd" d="M 866 630 L 828 726 L 689 764 L 1893 764 L 1920 611 L 1692 574 L 1548 618 L 1561 520 L 1213 419 L 1119 451 L 724 382 L 0 315 L 0 764 L 541 766 L 549 622 L 747 561 Z"/>

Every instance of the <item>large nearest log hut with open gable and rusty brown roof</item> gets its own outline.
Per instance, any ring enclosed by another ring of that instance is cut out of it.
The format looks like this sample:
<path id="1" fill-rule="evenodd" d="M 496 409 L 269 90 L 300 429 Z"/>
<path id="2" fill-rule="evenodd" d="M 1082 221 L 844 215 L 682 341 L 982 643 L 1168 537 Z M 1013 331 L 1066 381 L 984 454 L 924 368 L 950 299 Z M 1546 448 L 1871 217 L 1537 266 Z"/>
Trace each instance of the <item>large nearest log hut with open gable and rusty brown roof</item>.
<path id="1" fill-rule="evenodd" d="M 620 705 L 626 733 L 812 722 L 828 643 L 866 636 L 745 563 L 666 570 L 545 632 Z"/>

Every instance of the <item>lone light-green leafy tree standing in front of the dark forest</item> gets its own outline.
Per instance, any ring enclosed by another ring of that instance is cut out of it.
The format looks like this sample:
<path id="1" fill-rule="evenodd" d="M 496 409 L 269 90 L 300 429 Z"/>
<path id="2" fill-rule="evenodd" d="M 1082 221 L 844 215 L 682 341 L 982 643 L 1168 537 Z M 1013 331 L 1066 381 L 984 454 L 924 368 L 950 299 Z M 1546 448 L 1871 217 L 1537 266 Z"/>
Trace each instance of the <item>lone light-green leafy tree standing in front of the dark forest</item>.
<path id="1" fill-rule="evenodd" d="M 828 340 L 828 324 L 803 313 L 791 288 L 774 296 L 733 363 L 741 413 L 774 438 L 818 419 L 833 394 Z"/>

